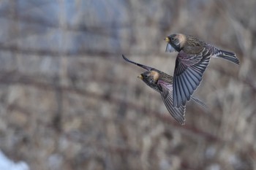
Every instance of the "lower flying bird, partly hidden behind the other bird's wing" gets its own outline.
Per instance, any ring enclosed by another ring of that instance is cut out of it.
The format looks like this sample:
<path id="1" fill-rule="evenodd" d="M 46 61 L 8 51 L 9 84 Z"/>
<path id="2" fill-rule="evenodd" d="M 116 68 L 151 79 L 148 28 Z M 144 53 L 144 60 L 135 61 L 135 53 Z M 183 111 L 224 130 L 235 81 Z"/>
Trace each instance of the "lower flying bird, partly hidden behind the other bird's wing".
<path id="1" fill-rule="evenodd" d="M 181 125 L 185 124 L 185 110 L 186 106 L 181 105 L 181 107 L 173 107 L 173 77 L 165 72 L 161 72 L 158 69 L 154 69 L 150 66 L 145 66 L 140 63 L 135 63 L 134 61 L 130 61 L 124 55 L 122 55 L 125 61 L 129 63 L 133 63 L 137 66 L 146 69 L 146 72 L 143 72 L 138 76 L 140 80 L 146 83 L 150 88 L 153 88 L 158 93 L 161 94 L 162 101 L 165 104 L 170 115 Z M 206 104 L 203 101 L 200 101 L 198 98 L 192 96 L 192 99 L 200 104 L 202 107 L 206 107 Z"/>

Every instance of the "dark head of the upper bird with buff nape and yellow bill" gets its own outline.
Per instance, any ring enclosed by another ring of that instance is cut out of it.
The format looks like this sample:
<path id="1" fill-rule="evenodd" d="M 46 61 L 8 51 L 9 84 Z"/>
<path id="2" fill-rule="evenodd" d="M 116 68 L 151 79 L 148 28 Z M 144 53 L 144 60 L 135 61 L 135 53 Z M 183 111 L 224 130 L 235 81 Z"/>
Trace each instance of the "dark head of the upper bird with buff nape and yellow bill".
<path id="1" fill-rule="evenodd" d="M 186 36 L 184 34 L 171 34 L 165 38 L 167 42 L 167 47 L 165 51 L 173 52 L 173 51 L 181 51 L 186 42 Z"/>

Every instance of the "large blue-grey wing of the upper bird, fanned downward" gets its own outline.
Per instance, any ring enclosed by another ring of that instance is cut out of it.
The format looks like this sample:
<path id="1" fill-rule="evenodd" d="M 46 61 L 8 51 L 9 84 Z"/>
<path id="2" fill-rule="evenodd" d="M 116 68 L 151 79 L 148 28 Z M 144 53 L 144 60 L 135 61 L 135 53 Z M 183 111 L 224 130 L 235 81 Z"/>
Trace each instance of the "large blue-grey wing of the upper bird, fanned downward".
<path id="1" fill-rule="evenodd" d="M 204 48 L 200 54 L 187 55 L 181 50 L 176 58 L 173 74 L 173 106 L 180 107 L 200 85 L 210 61 L 211 52 Z"/>

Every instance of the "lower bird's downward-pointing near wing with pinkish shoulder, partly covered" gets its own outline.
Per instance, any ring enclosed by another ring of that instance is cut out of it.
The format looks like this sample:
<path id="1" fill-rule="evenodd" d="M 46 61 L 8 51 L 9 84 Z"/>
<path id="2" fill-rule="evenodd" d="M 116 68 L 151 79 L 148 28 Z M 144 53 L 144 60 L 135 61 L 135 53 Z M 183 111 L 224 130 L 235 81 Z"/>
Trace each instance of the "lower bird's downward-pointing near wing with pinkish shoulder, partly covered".
<path id="1" fill-rule="evenodd" d="M 162 101 L 164 101 L 165 107 L 170 112 L 175 120 L 181 125 L 185 124 L 185 106 L 173 107 L 173 85 L 163 80 L 158 80 L 157 84 L 160 89 Z"/>

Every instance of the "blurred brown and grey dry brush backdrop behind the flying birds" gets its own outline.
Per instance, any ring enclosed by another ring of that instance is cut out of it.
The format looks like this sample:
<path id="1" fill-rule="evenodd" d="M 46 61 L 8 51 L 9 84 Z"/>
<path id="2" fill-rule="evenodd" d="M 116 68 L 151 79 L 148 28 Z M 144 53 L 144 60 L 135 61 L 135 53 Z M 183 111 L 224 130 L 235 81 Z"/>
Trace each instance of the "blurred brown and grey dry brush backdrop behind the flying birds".
<path id="1" fill-rule="evenodd" d="M 30 169 L 256 169 L 256 1 L 1 1 L 0 150 Z M 121 54 L 173 74 L 165 36 L 214 58 L 186 125 Z"/>

